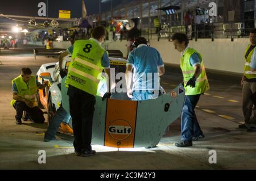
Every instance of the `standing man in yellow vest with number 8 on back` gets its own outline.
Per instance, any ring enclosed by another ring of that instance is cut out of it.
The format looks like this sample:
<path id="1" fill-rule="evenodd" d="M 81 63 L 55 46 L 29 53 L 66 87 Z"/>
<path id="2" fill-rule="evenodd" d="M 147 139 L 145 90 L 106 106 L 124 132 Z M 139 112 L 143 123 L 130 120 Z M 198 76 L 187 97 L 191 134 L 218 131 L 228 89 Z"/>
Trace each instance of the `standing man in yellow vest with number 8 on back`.
<path id="1" fill-rule="evenodd" d="M 101 47 L 105 36 L 106 29 L 99 26 L 93 29 L 91 39 L 75 42 L 72 62 L 65 81 L 68 85 L 75 154 L 82 157 L 96 154 L 91 146 L 92 121 L 98 83 L 103 69 L 110 78 L 108 53 Z M 109 93 L 106 93 L 102 100 L 111 96 L 110 81 L 108 90 Z"/>

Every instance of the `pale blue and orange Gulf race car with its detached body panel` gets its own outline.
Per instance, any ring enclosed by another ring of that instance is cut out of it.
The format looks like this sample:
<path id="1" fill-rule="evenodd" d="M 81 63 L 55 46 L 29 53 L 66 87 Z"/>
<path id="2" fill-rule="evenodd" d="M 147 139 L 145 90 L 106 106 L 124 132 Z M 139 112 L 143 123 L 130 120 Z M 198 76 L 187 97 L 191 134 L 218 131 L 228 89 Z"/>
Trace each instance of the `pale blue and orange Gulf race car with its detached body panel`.
<path id="1" fill-rule="evenodd" d="M 71 57 L 67 57 L 70 60 Z M 66 66 L 68 66 L 66 61 Z M 125 73 L 127 60 L 110 57 L 110 66 L 115 74 Z M 65 78 L 60 77 L 59 64 L 55 65 L 53 79 L 50 73 L 41 73 L 40 77 L 48 79 L 48 121 L 60 107 L 69 113 L 69 101 Z M 115 89 L 112 83 L 112 89 Z M 126 86 L 125 86 L 126 87 Z M 161 94 L 164 90 L 161 89 Z M 126 92 L 114 93 L 112 98 L 102 101 L 107 91 L 106 80 L 102 77 L 96 96 L 96 105 L 93 117 L 92 144 L 110 146 L 114 148 L 153 148 L 162 138 L 168 125 L 180 116 L 183 107 L 185 92 L 179 85 L 170 94 L 159 96 L 158 99 L 145 101 L 131 101 Z M 65 117 L 60 125 L 59 132 L 73 134 L 71 116 Z"/>

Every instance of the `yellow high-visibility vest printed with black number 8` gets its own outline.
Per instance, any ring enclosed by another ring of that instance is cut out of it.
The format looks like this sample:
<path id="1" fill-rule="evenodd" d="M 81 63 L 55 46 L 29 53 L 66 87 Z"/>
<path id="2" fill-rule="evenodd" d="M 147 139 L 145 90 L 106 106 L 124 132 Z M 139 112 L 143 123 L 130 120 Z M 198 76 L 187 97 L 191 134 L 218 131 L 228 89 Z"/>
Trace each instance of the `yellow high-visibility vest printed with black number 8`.
<path id="1" fill-rule="evenodd" d="M 66 85 L 96 96 L 103 70 L 101 60 L 104 53 L 105 49 L 92 39 L 77 40 L 74 44 Z"/>

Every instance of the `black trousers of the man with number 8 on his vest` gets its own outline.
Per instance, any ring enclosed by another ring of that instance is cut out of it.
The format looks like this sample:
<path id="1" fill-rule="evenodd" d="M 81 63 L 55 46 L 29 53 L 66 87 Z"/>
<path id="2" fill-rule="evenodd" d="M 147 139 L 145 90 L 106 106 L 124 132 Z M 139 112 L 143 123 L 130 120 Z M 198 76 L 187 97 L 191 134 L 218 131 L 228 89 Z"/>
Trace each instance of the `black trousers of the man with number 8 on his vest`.
<path id="1" fill-rule="evenodd" d="M 77 151 L 92 150 L 92 121 L 95 96 L 70 86 L 68 88 L 69 109 L 72 117 L 74 148 Z"/>

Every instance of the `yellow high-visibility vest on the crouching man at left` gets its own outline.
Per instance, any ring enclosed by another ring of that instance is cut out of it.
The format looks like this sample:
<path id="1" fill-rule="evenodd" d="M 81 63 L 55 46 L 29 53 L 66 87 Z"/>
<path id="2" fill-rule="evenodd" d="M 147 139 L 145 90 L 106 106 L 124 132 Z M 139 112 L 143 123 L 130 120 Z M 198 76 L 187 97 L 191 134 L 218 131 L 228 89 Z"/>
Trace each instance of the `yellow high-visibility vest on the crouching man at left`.
<path id="1" fill-rule="evenodd" d="M 36 107 L 37 104 L 35 102 L 35 98 L 36 98 L 36 92 L 38 91 L 38 87 L 36 86 L 35 76 L 33 75 L 31 76 L 31 79 L 28 82 L 28 86 L 27 86 L 27 83 L 23 81 L 21 75 L 13 79 L 13 81 L 11 81 L 11 84 L 13 85 L 14 82 L 18 89 L 18 96 L 20 96 L 21 98 L 30 100 L 31 102 L 33 102 L 34 107 Z M 11 100 L 11 103 L 10 103 L 11 106 L 13 106 L 15 102 L 16 100 L 14 99 Z"/>

